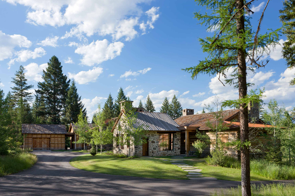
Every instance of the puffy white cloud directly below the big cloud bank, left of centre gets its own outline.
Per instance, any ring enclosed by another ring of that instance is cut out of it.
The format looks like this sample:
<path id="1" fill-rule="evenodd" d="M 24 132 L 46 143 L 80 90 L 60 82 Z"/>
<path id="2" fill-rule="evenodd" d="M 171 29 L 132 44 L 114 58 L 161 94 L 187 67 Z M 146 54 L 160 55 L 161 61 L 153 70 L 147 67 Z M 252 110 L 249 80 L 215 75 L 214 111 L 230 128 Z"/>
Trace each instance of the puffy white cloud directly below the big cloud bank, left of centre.
<path id="1" fill-rule="evenodd" d="M 89 45 L 78 47 L 75 53 L 83 55 L 83 58 L 80 59 L 81 64 L 93 66 L 119 56 L 123 46 L 124 44 L 119 41 L 109 44 L 106 39 L 96 40 Z"/>

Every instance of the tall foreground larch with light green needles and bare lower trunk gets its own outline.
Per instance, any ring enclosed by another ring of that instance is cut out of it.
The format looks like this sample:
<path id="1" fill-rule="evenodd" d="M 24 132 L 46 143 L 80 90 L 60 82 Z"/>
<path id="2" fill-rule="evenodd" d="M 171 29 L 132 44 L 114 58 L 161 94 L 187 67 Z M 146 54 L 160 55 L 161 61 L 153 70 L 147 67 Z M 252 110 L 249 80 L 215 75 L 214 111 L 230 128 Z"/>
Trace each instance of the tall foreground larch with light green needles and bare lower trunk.
<path id="1" fill-rule="evenodd" d="M 242 195 L 250 196 L 250 160 L 249 160 L 249 129 L 248 108 L 250 101 L 257 101 L 254 97 L 247 97 L 247 71 L 254 68 L 264 67 L 268 60 L 260 61 L 263 53 L 269 54 L 270 46 L 278 43 L 278 30 L 259 34 L 260 25 L 269 4 L 267 1 L 263 9 L 257 30 L 252 30 L 250 23 L 251 3 L 254 0 L 195 0 L 198 5 L 206 7 L 208 12 L 194 12 L 199 24 L 207 25 L 208 31 L 214 31 L 214 36 L 199 38 L 203 52 L 207 54 L 204 60 L 194 67 L 184 69 L 191 73 L 192 78 L 199 74 L 217 75 L 220 82 L 225 77 L 226 84 L 233 84 L 239 89 L 239 99 L 227 102 L 227 106 L 239 106 L 240 109 L 240 138 L 241 150 L 241 178 Z M 268 13 L 271 14 L 271 13 Z M 256 21 L 255 21 L 256 22 Z M 247 62 L 246 62 L 247 59 Z M 227 72 L 234 68 L 231 76 L 227 79 Z M 222 82 L 223 84 L 223 82 Z M 253 98 L 253 99 L 252 99 Z"/>

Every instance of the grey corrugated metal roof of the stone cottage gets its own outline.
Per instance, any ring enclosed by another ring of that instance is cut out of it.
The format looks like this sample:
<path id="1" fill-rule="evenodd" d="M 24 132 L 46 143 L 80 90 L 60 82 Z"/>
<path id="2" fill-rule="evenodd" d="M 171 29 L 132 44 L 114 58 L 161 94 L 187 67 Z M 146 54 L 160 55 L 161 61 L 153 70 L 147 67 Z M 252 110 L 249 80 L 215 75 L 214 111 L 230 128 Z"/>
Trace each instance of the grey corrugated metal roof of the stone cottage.
<path id="1" fill-rule="evenodd" d="M 149 131 L 179 131 L 178 124 L 167 114 L 160 112 L 135 112 L 137 120 L 134 127 L 143 125 Z"/>

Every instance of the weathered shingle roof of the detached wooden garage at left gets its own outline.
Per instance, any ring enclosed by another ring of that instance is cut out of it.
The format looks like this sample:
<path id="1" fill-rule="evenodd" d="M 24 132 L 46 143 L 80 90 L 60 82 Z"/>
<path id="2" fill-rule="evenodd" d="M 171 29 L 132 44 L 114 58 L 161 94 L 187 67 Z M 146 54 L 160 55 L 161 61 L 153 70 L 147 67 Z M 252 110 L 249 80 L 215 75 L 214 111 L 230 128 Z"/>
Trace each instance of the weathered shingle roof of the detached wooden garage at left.
<path id="1" fill-rule="evenodd" d="M 64 124 L 22 124 L 22 133 L 66 134 Z"/>

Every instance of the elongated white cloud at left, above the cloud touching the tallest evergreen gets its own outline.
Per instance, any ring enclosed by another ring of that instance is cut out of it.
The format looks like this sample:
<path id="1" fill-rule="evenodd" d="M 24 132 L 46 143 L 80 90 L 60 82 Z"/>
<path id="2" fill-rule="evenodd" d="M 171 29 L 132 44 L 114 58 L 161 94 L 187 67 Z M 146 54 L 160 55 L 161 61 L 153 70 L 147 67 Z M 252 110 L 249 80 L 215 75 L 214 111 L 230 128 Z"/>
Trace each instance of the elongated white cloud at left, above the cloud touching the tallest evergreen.
<path id="1" fill-rule="evenodd" d="M 15 53 L 17 58 L 11 59 L 8 62 L 9 68 L 14 64 L 14 62 L 26 62 L 28 59 L 36 59 L 38 57 L 42 57 L 46 54 L 46 51 L 43 48 L 35 48 L 34 51 L 31 50 L 21 50 Z"/>

